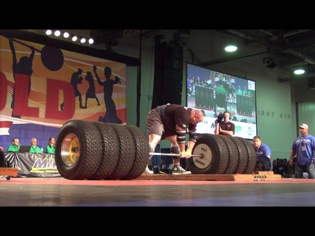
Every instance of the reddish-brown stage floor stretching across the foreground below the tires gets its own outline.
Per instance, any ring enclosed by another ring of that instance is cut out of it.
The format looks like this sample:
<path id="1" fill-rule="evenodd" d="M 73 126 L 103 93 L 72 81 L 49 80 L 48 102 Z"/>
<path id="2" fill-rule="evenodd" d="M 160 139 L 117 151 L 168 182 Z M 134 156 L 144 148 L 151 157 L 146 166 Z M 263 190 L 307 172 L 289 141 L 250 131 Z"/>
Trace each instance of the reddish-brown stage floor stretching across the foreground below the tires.
<path id="1" fill-rule="evenodd" d="M 0 178 L 0 206 L 315 206 L 315 179 L 279 181 Z"/>

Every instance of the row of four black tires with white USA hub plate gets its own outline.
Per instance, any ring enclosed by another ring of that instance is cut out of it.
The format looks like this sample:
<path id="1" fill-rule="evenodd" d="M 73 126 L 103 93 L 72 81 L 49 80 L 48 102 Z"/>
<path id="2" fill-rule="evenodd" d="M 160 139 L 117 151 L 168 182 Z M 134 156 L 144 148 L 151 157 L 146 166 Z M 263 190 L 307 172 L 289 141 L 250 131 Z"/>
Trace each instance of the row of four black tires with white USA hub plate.
<path id="1" fill-rule="evenodd" d="M 256 152 L 246 139 L 226 135 L 201 134 L 188 159 L 192 174 L 252 174 Z"/>

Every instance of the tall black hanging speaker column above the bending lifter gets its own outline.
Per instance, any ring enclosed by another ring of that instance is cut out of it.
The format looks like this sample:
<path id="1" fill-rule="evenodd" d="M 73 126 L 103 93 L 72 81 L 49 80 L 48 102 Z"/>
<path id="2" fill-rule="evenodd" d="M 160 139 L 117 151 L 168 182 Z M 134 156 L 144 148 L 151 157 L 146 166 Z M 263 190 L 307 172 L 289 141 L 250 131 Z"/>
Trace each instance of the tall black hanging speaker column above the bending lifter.
<path id="1" fill-rule="evenodd" d="M 183 88 L 183 48 L 167 42 L 155 45 L 152 109 L 167 103 L 181 104 Z"/>

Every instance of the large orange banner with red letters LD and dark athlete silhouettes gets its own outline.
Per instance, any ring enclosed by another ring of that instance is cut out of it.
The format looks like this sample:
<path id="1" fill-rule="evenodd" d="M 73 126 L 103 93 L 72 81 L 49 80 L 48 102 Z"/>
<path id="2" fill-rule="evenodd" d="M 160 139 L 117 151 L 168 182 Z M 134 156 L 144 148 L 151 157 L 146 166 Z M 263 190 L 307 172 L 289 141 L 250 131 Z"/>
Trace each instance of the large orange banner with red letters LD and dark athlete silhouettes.
<path id="1" fill-rule="evenodd" d="M 126 124 L 126 64 L 0 36 L 0 146 L 46 147 L 68 119 Z"/>

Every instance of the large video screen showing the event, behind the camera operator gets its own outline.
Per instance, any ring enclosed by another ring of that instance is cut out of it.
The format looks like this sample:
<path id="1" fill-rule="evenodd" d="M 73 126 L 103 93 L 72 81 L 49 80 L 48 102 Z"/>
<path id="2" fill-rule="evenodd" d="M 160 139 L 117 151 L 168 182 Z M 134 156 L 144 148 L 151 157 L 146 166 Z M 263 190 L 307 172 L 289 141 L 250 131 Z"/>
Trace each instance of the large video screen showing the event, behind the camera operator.
<path id="1" fill-rule="evenodd" d="M 214 134 L 219 113 L 228 111 L 235 125 L 233 136 L 252 139 L 256 127 L 256 83 L 224 72 L 187 63 L 187 106 L 204 110 L 197 133 Z"/>

